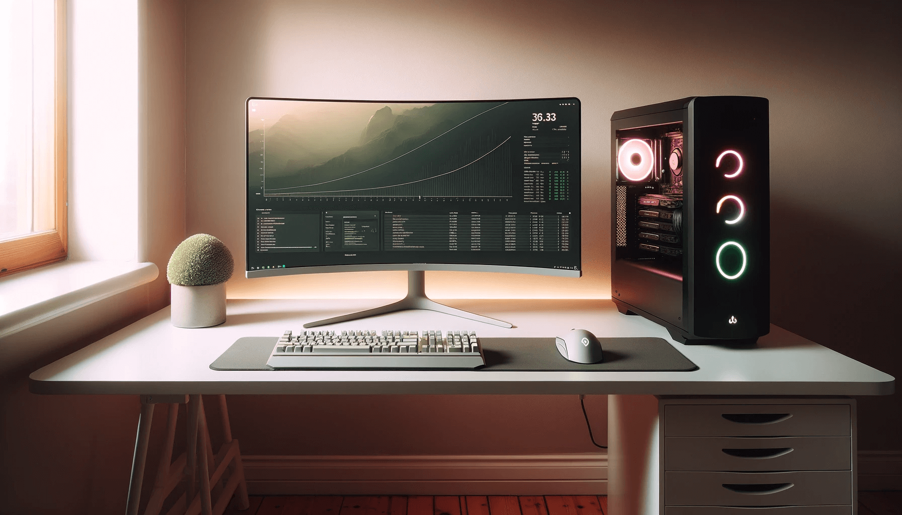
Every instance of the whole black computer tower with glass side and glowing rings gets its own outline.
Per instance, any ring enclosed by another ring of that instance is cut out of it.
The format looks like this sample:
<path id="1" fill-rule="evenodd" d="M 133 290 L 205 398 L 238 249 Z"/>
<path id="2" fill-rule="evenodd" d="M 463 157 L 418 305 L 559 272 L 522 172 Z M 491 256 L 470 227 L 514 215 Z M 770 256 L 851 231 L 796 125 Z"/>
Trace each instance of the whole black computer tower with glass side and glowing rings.
<path id="1" fill-rule="evenodd" d="M 611 117 L 612 299 L 687 344 L 769 332 L 768 99 Z"/>

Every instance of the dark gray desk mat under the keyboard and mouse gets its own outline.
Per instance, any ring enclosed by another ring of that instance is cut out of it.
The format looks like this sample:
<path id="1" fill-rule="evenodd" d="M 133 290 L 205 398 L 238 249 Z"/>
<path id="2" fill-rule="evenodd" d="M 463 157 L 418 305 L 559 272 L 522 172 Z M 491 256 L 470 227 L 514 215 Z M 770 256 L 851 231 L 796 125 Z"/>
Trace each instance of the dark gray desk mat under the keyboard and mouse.
<path id="1" fill-rule="evenodd" d="M 278 337 L 238 338 L 216 361 L 213 370 L 272 370 L 266 364 Z M 485 366 L 491 371 L 616 371 L 689 372 L 698 367 L 662 338 L 599 338 L 604 350 L 602 363 L 566 361 L 554 338 L 479 338 Z"/>

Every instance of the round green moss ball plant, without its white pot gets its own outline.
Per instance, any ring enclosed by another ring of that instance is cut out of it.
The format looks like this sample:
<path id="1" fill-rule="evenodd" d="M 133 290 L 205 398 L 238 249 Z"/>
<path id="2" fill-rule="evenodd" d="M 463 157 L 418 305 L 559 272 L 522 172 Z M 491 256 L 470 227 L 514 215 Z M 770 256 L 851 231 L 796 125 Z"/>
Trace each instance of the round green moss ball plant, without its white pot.
<path id="1" fill-rule="evenodd" d="M 166 279 L 179 286 L 207 286 L 226 282 L 234 270 L 232 253 L 219 238 L 193 235 L 172 252 Z"/>

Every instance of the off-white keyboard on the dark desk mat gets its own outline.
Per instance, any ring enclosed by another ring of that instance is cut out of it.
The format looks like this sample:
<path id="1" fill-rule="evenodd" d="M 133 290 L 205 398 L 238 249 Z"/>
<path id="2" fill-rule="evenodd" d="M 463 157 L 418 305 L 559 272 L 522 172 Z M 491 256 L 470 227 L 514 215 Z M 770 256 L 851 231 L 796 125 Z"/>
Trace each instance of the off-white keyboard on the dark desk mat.
<path id="1" fill-rule="evenodd" d="M 266 364 L 275 369 L 474 369 L 474 331 L 285 331 Z"/>

